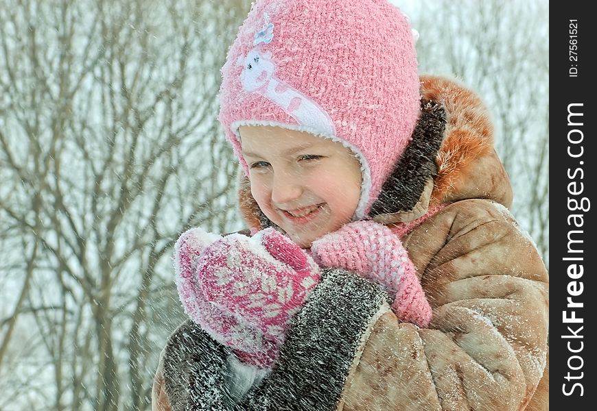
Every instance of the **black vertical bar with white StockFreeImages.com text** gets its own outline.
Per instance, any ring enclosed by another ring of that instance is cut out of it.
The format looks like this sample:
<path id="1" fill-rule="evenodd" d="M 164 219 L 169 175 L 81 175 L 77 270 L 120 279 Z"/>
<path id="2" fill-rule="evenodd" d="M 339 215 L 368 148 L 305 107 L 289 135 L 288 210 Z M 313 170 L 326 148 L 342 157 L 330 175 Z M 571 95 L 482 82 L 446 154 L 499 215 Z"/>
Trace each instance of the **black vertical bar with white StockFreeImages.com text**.
<path id="1" fill-rule="evenodd" d="M 597 399 L 597 148 L 591 2 L 550 4 L 550 406 Z"/>

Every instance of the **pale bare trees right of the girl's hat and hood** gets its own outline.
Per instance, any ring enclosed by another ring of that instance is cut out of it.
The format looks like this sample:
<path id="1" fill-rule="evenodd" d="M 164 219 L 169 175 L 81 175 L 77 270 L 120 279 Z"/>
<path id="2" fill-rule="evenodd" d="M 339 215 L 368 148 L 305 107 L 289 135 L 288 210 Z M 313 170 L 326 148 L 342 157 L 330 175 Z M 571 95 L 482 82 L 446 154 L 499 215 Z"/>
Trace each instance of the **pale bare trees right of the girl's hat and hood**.
<path id="1" fill-rule="evenodd" d="M 420 71 L 461 79 L 487 103 L 513 183 L 513 214 L 548 264 L 548 2 L 394 3 L 420 33 Z"/>

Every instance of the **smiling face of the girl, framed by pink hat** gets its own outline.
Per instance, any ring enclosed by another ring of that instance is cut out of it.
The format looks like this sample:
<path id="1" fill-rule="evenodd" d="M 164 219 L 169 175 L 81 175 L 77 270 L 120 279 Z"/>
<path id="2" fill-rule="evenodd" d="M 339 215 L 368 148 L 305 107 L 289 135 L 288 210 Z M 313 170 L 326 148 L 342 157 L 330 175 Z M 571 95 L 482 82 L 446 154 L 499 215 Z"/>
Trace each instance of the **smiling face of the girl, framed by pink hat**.
<path id="1" fill-rule="evenodd" d="M 360 162 L 328 138 L 271 126 L 242 126 L 242 155 L 261 211 L 303 248 L 353 218 Z"/>

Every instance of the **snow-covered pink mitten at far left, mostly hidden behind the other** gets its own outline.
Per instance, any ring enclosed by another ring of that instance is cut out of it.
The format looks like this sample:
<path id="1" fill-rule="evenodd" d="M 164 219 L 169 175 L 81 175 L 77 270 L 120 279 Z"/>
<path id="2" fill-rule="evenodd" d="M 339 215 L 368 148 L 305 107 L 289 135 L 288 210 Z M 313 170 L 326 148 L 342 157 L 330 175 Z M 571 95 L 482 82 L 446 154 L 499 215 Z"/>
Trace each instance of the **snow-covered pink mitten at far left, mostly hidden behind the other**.
<path id="1" fill-rule="evenodd" d="M 201 228 L 189 229 L 176 241 L 174 269 L 178 296 L 187 315 L 211 338 L 235 349 L 242 360 L 269 365 L 274 350 L 271 341 L 254 325 L 244 323 L 231 312 L 209 303 L 197 282 L 197 262 L 205 247 L 222 237 Z"/>

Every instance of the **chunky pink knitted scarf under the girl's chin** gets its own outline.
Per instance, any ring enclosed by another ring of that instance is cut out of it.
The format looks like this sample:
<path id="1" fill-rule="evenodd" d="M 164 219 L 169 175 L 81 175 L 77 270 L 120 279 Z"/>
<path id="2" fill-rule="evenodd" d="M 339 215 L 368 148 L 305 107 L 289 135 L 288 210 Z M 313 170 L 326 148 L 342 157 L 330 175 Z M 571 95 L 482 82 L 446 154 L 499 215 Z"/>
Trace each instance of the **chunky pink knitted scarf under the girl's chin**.
<path id="1" fill-rule="evenodd" d="M 385 225 L 355 221 L 315 240 L 311 246 L 320 266 L 355 271 L 386 287 L 400 319 L 426 327 L 432 311 L 416 270 L 400 238 Z"/>

